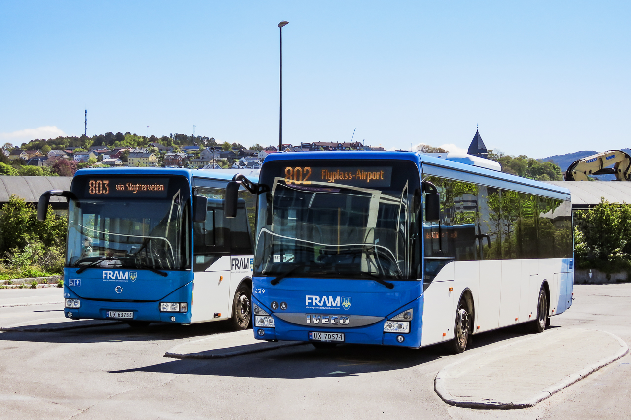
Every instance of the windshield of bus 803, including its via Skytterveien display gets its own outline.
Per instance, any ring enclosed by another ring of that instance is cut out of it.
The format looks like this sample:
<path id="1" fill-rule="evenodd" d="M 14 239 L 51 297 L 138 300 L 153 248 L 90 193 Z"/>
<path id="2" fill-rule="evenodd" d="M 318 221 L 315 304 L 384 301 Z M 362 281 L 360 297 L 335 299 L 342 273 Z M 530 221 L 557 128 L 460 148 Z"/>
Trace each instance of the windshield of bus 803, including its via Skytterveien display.
<path id="1" fill-rule="evenodd" d="M 66 267 L 190 269 L 186 178 L 85 175 L 72 190 Z"/>

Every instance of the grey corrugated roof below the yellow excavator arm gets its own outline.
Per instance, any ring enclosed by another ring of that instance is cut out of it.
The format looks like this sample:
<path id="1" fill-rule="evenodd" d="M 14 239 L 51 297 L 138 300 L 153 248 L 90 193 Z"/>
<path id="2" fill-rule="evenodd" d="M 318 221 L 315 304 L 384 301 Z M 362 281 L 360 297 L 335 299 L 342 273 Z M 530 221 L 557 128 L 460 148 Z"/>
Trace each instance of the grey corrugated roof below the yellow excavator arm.
<path id="1" fill-rule="evenodd" d="M 631 204 L 631 182 L 617 181 L 544 181 L 570 190 L 572 207 L 584 209 L 594 206 L 604 197 L 608 202 Z"/>

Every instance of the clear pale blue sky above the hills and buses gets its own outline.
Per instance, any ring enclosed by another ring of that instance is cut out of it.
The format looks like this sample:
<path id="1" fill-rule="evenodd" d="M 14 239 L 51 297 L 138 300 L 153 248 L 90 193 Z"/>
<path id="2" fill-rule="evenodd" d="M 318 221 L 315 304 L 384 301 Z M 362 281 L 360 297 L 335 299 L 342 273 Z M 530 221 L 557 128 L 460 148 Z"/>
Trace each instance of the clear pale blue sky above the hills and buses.
<path id="1" fill-rule="evenodd" d="M 628 1 L 0 1 L 0 141 L 631 146 Z M 147 126 L 150 128 L 147 128 Z M 49 127 L 49 128 L 40 128 Z M 42 134 L 45 136 L 45 134 Z M 51 136 L 45 136 L 51 137 Z M 54 136 L 53 136 L 54 137 Z"/>

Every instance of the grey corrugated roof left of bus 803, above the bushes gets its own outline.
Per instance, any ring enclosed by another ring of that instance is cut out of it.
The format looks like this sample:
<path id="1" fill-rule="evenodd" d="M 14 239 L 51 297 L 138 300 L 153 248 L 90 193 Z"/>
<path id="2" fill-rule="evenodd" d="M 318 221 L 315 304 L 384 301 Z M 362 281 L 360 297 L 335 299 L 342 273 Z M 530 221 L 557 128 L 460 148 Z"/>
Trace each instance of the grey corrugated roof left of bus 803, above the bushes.
<path id="1" fill-rule="evenodd" d="M 12 194 L 27 202 L 38 202 L 48 190 L 69 190 L 73 177 L 10 177 L 0 176 L 0 203 L 9 201 Z M 66 204 L 65 197 L 50 197 L 51 203 Z"/>

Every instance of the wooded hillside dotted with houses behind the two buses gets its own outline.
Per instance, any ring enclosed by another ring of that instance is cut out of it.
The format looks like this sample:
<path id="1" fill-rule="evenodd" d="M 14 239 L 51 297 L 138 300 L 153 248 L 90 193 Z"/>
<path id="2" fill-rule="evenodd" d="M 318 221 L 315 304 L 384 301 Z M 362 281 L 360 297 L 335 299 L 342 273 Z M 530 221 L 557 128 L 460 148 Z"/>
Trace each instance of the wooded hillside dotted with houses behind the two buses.
<path id="1" fill-rule="evenodd" d="M 283 144 L 282 151 L 384 150 L 360 142 Z M 57 137 L 33 140 L 20 147 L 5 144 L 0 175 L 74 175 L 80 168 L 248 168 L 257 169 L 277 146 L 218 143 L 214 138 L 170 134 L 102 134 L 93 137 Z"/>

